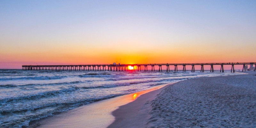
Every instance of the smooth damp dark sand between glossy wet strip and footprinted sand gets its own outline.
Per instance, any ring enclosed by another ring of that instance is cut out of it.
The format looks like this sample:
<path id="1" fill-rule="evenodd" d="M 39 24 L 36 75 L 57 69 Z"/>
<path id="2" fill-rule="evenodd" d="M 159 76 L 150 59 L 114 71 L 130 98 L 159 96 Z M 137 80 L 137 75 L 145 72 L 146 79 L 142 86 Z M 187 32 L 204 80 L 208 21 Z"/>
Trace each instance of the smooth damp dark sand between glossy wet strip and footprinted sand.
<path id="1" fill-rule="evenodd" d="M 172 86 L 173 84 L 167 84 L 160 89 L 147 92 L 138 97 L 138 99 L 120 106 L 112 112 L 112 115 L 115 116 L 115 121 L 107 128 L 142 128 L 147 123 L 148 111 L 151 108 L 150 102 L 166 87 Z"/>

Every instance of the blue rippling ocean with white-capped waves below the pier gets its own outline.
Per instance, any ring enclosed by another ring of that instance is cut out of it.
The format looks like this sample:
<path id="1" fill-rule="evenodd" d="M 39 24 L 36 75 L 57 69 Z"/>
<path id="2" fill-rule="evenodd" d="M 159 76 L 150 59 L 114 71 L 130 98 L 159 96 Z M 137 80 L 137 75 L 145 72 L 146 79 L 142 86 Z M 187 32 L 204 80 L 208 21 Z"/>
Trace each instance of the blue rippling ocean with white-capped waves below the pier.
<path id="1" fill-rule="evenodd" d="M 0 127 L 28 126 L 95 101 L 220 72 L 0 70 Z"/>

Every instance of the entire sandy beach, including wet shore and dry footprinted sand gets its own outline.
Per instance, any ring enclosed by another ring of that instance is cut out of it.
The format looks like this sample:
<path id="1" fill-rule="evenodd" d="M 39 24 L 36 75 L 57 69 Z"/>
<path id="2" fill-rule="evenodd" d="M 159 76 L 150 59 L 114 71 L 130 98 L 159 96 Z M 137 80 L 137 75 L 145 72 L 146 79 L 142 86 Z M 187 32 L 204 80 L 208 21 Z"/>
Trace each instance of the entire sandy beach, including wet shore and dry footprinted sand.
<path id="1" fill-rule="evenodd" d="M 46 118 L 31 127 L 255 127 L 256 72 L 201 77 L 124 95 Z"/>

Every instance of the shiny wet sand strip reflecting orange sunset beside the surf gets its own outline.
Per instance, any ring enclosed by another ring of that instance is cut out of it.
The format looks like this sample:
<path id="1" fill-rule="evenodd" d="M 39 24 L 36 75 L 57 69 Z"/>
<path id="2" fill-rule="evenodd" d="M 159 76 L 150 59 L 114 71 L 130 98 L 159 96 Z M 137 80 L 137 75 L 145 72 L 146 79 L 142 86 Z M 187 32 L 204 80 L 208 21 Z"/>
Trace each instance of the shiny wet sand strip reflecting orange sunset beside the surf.
<path id="1" fill-rule="evenodd" d="M 136 93 L 118 96 L 93 102 L 60 114 L 33 122 L 29 128 L 102 128 L 108 127 L 115 121 L 112 111 L 120 106 L 136 101 L 143 94 L 163 90 L 169 84 L 162 84 Z M 134 96 L 134 94 L 137 94 Z"/>

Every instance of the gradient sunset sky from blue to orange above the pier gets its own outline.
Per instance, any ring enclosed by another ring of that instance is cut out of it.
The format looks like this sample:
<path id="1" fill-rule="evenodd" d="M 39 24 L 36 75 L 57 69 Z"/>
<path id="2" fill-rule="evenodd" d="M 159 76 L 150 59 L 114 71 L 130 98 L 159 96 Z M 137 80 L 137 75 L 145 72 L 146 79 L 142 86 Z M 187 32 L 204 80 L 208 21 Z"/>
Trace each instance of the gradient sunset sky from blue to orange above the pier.
<path id="1" fill-rule="evenodd" d="M 253 0 L 2 0 L 0 19 L 0 69 L 256 61 Z"/>

